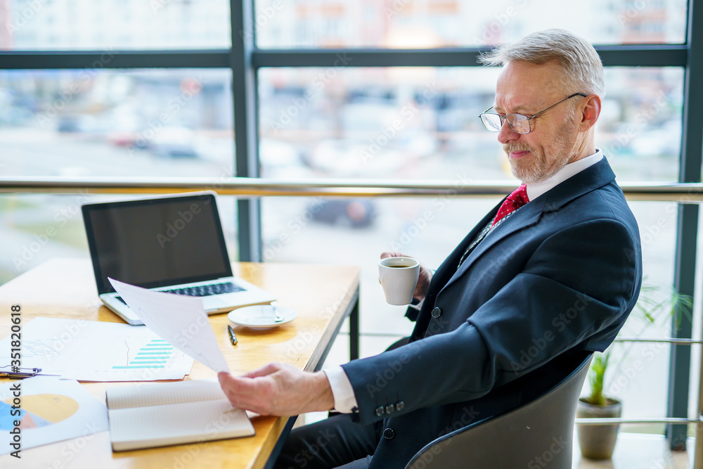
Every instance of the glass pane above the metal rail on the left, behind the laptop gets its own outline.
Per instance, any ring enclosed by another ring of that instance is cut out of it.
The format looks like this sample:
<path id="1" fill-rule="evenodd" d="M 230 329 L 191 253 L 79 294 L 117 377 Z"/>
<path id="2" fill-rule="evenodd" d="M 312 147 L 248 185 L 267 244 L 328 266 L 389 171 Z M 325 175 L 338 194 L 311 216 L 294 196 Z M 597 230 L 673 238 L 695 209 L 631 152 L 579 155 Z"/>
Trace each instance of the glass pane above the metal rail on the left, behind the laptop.
<path id="1" fill-rule="evenodd" d="M 229 70 L 0 71 L 2 174 L 230 176 Z"/>

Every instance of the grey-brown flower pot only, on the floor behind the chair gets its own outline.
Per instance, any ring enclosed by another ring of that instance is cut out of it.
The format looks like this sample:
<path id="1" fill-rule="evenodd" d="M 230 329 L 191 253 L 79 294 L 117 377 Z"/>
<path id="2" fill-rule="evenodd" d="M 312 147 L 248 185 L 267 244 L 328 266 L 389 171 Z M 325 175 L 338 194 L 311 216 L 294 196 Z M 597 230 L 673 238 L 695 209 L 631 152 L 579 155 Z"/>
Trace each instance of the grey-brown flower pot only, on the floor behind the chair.
<path id="1" fill-rule="evenodd" d="M 576 406 L 577 418 L 614 418 L 622 413 L 622 404 L 615 399 L 607 398 L 605 406 L 594 406 L 584 399 L 586 398 L 579 399 L 579 405 Z M 620 425 L 578 425 L 578 428 L 579 446 L 584 457 L 591 459 L 612 457 Z"/>

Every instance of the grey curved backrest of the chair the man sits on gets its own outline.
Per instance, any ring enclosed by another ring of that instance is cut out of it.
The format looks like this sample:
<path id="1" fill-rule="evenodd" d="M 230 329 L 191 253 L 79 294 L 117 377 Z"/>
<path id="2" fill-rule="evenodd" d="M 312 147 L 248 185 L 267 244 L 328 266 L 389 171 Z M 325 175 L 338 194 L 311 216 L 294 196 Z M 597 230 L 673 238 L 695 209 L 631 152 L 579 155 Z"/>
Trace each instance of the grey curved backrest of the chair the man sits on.
<path id="1" fill-rule="evenodd" d="M 435 439 L 406 469 L 571 469 L 576 404 L 591 358 L 533 401 Z"/>

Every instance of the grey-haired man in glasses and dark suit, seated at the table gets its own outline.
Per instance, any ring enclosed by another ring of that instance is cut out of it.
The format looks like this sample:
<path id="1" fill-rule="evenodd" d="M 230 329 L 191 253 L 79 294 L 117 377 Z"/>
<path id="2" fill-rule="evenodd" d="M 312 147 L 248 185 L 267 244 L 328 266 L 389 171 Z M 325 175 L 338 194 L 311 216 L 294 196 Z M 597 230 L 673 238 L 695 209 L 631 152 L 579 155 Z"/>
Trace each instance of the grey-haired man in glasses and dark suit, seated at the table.
<path id="1" fill-rule="evenodd" d="M 219 375 L 234 406 L 341 412 L 292 432 L 278 467 L 403 468 L 433 439 L 557 383 L 610 345 L 634 307 L 638 227 L 594 143 L 605 95 L 598 54 L 548 30 L 483 60 L 503 70 L 480 117 L 524 184 L 431 279 L 423 269 L 409 343 L 325 372 L 270 364 Z"/>

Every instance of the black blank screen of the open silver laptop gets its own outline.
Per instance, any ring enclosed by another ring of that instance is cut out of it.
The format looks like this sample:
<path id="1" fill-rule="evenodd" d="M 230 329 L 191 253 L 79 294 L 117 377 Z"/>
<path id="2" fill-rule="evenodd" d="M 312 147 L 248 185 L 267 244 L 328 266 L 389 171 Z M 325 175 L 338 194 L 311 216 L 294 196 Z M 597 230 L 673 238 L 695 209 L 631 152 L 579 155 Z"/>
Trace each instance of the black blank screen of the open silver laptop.
<path id="1" fill-rule="evenodd" d="M 82 207 L 98 293 L 108 277 L 144 288 L 232 275 L 213 194 Z"/>

